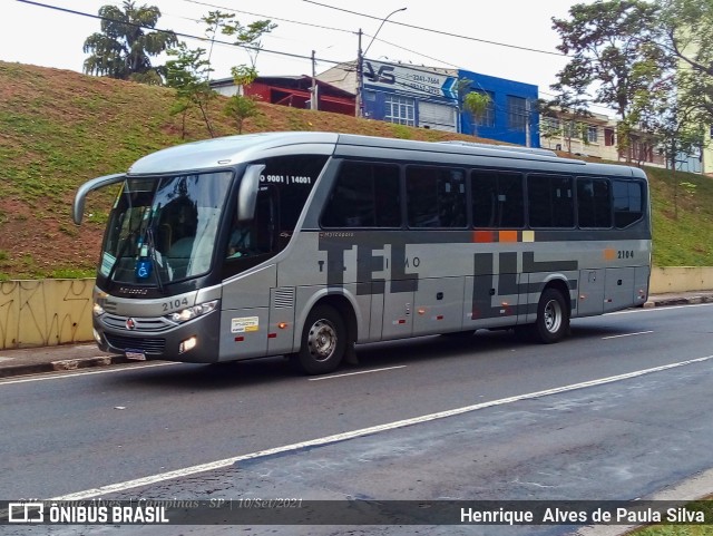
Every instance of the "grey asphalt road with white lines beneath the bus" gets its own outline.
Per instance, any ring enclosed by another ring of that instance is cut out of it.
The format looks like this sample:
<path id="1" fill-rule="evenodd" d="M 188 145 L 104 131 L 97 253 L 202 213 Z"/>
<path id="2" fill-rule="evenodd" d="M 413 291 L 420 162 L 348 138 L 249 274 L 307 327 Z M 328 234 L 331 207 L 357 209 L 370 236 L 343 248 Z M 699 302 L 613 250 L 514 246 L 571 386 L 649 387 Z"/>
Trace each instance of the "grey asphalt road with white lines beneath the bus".
<path id="1" fill-rule="evenodd" d="M 711 304 L 574 321 L 555 345 L 479 332 L 358 354 L 358 367 L 318 378 L 268 359 L 1 381 L 0 489 L 10 499 L 634 499 L 713 467 Z M 349 532 L 481 534 L 413 528 Z M 344 534 L 320 530 L 280 534 Z"/>

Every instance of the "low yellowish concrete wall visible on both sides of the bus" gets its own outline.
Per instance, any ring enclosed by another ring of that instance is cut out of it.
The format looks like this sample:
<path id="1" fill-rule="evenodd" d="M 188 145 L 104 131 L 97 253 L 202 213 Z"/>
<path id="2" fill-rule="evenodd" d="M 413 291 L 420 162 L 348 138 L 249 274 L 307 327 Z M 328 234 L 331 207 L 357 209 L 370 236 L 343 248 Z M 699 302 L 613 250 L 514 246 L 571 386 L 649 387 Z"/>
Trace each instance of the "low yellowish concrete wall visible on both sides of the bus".
<path id="1" fill-rule="evenodd" d="M 0 283 L 0 350 L 91 341 L 94 279 Z M 713 290 L 713 267 L 655 267 L 651 294 Z"/>

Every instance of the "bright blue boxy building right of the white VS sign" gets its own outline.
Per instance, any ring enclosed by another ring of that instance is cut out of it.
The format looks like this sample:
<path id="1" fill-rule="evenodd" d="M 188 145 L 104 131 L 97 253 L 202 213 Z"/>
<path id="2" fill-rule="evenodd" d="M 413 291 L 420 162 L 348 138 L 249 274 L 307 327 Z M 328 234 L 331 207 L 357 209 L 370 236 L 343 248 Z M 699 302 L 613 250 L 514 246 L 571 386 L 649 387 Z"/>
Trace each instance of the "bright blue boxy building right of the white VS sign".
<path id="1" fill-rule="evenodd" d="M 460 95 L 460 131 L 527 147 L 539 147 L 537 86 L 505 78 L 459 70 L 460 80 L 470 80 Z M 476 91 L 490 97 L 486 113 L 473 120 L 462 106 L 463 97 Z"/>

